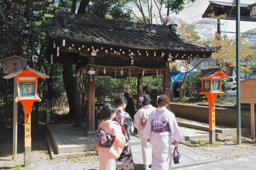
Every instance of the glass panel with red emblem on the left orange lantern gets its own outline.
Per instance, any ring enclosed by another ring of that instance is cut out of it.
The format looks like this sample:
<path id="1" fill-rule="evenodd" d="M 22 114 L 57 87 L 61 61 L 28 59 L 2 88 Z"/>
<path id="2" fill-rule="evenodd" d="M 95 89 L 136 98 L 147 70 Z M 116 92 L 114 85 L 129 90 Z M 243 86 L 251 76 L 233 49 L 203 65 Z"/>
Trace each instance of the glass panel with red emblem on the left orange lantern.
<path id="1" fill-rule="evenodd" d="M 35 96 L 35 82 L 20 82 L 20 97 Z"/>

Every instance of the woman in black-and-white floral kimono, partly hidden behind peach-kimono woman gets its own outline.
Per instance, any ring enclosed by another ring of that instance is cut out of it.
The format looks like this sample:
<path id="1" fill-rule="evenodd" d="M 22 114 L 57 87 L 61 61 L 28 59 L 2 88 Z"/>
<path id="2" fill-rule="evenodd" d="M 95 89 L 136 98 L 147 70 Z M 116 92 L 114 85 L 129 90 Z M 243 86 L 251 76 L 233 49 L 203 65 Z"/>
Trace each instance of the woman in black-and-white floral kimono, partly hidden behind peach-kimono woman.
<path id="1" fill-rule="evenodd" d="M 122 127 L 123 135 L 125 136 L 125 147 L 118 159 L 116 159 L 116 170 L 134 170 L 131 148 L 129 145 L 130 135 L 134 131 L 134 125 L 130 115 L 124 111 L 127 99 L 123 94 L 116 94 L 114 104 L 117 108 L 116 117 L 113 119 Z"/>

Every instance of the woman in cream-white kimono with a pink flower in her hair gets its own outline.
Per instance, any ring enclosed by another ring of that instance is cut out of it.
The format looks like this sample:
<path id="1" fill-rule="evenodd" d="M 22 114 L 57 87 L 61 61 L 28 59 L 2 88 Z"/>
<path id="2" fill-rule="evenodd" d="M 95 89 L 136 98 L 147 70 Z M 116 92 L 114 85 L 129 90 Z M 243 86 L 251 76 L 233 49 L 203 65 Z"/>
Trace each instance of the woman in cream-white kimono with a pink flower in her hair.
<path id="1" fill-rule="evenodd" d="M 148 166 L 152 161 L 152 148 L 151 144 L 147 142 L 148 138 L 143 138 L 142 134 L 150 113 L 157 109 L 150 105 L 150 102 L 150 96 L 148 94 L 142 94 L 140 97 L 140 104 L 143 108 L 140 108 L 134 115 L 134 127 L 138 129 L 138 137 L 141 140 L 142 157 L 145 170 L 148 170 Z"/>

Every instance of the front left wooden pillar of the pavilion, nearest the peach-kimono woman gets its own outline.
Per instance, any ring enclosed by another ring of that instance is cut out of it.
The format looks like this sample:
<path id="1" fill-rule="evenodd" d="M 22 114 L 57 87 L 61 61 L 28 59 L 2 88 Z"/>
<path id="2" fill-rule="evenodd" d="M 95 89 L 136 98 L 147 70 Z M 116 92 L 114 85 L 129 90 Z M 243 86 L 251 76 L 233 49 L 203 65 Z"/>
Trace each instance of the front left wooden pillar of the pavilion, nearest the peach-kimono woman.
<path id="1" fill-rule="evenodd" d="M 94 129 L 95 110 L 95 74 L 88 74 L 88 94 L 87 94 L 87 130 L 86 136 L 95 136 Z"/>

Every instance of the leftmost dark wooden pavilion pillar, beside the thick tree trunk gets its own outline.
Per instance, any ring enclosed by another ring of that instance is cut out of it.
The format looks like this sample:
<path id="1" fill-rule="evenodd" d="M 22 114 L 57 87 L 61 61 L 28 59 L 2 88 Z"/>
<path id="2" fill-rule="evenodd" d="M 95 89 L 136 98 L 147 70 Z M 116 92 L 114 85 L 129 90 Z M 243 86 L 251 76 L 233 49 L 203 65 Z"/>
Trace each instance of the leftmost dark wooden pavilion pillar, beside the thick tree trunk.
<path id="1" fill-rule="evenodd" d="M 74 127 L 81 126 L 81 91 L 80 91 L 80 73 L 76 75 L 76 92 L 75 92 L 75 120 Z"/>

